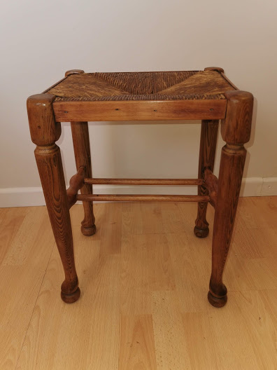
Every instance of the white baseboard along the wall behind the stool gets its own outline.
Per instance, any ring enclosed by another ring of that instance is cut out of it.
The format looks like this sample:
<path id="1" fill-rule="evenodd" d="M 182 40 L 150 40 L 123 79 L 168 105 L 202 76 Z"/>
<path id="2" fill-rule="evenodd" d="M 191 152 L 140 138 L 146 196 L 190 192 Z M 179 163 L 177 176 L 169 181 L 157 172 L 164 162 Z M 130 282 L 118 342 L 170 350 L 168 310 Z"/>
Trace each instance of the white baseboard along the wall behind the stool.
<path id="1" fill-rule="evenodd" d="M 187 194 L 197 193 L 195 186 L 106 186 L 94 185 L 99 194 Z M 277 196 L 277 177 L 248 177 L 243 179 L 241 196 Z M 0 207 L 45 205 L 41 187 L 0 189 Z"/>

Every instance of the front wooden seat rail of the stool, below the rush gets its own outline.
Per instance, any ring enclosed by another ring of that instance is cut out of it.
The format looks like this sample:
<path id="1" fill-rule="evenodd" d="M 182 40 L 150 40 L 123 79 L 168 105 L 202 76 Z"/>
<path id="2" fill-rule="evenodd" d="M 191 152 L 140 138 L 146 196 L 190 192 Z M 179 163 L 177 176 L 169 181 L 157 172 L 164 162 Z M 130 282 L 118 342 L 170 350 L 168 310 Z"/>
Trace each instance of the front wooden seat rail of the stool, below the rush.
<path id="1" fill-rule="evenodd" d="M 165 100 L 59 102 L 53 104 L 56 121 L 158 121 L 223 119 L 226 100 Z"/>

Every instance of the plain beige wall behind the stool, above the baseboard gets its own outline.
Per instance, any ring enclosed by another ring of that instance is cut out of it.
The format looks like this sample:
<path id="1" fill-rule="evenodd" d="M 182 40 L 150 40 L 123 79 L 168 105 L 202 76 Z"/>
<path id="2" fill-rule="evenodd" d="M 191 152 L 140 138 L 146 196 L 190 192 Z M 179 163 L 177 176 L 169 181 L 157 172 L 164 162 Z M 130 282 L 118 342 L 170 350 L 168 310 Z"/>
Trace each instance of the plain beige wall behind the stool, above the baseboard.
<path id="1" fill-rule="evenodd" d="M 0 22 L 0 188 L 40 186 L 26 98 L 72 68 L 223 67 L 257 99 L 244 177 L 276 178 L 276 13 L 272 0 L 6 2 Z M 199 124 L 92 123 L 90 133 L 95 177 L 197 176 Z M 75 167 L 67 123 L 59 145 L 69 179 Z"/>

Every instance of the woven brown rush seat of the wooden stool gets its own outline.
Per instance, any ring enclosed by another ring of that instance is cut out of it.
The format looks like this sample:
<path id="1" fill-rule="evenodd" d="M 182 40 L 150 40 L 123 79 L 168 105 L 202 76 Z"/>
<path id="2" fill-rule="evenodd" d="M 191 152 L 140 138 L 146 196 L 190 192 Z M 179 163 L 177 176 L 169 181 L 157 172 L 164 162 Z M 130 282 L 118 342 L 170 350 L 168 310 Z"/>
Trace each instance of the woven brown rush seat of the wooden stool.
<path id="1" fill-rule="evenodd" d="M 48 90 L 55 101 L 226 99 L 234 85 L 220 71 L 71 74 Z"/>

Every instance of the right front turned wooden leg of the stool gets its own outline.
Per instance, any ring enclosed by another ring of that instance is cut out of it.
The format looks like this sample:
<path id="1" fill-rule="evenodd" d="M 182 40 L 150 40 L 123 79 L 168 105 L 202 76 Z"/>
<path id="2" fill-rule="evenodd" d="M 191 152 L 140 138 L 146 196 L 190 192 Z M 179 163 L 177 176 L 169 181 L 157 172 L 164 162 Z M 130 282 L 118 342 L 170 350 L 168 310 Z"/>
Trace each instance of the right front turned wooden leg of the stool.
<path id="1" fill-rule="evenodd" d="M 253 95 L 244 91 L 225 93 L 227 114 L 222 121 L 222 138 L 227 143 L 222 148 L 218 197 L 213 226 L 212 273 L 208 301 L 215 307 L 225 306 L 227 289 L 222 274 L 236 217 L 236 207 L 241 189 L 246 149 L 243 144 L 250 139 L 253 112 Z"/>

